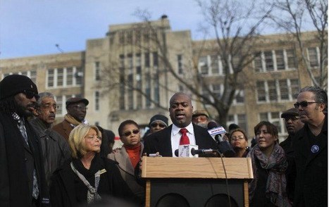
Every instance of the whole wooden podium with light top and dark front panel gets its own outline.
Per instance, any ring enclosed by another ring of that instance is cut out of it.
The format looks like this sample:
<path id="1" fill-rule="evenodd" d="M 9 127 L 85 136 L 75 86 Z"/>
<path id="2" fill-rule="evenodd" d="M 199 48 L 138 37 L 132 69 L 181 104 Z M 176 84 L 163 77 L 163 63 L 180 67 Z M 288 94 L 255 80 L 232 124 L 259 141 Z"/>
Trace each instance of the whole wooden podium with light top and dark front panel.
<path id="1" fill-rule="evenodd" d="M 146 206 L 249 206 L 251 158 L 223 158 L 228 180 L 221 158 L 144 156 L 142 161 Z"/>

